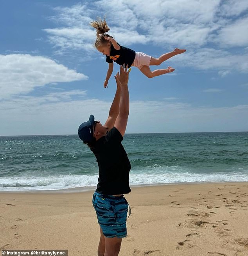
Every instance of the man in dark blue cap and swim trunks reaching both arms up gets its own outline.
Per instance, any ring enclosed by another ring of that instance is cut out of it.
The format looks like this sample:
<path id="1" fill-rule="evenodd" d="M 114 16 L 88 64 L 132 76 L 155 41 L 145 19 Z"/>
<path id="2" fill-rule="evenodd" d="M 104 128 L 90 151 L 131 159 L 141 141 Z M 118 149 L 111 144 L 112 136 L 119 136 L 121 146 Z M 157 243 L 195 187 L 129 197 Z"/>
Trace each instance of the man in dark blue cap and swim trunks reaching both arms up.
<path id="1" fill-rule="evenodd" d="M 93 115 L 79 126 L 79 138 L 95 154 L 99 167 L 93 207 L 100 225 L 98 256 L 117 256 L 122 238 L 126 237 L 128 202 L 123 194 L 129 187 L 130 162 L 121 144 L 129 115 L 128 65 L 120 66 L 115 76 L 117 90 L 104 125 Z"/>

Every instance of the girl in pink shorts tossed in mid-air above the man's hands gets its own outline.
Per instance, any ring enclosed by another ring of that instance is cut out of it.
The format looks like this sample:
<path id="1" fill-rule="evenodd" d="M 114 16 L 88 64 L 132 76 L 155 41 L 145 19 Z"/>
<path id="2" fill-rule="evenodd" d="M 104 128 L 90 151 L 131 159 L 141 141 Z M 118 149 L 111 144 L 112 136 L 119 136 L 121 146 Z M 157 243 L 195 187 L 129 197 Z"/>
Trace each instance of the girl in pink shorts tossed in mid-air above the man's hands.
<path id="1" fill-rule="evenodd" d="M 175 48 L 174 51 L 170 53 L 165 53 L 159 58 L 154 58 L 145 53 L 140 53 L 119 45 L 113 36 L 105 34 L 110 30 L 106 20 L 101 20 L 100 18 L 97 21 L 91 22 L 90 25 L 97 29 L 97 39 L 95 40 L 95 47 L 99 52 L 106 55 L 106 62 L 108 62 L 108 72 L 106 79 L 104 81 L 104 88 L 108 87 L 108 80 L 113 72 L 113 61 L 119 65 L 128 65 L 128 67 L 138 67 L 138 69 L 145 74 L 148 78 L 154 76 L 160 76 L 161 74 L 171 73 L 175 69 L 173 67 L 167 67 L 167 69 L 156 69 L 151 71 L 151 65 L 160 65 L 165 60 L 169 58 L 184 53 L 185 49 Z"/>

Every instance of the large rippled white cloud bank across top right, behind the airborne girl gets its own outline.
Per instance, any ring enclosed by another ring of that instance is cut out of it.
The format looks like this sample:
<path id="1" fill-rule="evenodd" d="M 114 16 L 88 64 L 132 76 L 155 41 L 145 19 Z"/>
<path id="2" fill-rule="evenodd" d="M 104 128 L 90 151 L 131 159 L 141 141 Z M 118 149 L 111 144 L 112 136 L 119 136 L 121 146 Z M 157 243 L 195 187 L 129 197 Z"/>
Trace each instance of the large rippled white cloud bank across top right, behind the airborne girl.
<path id="1" fill-rule="evenodd" d="M 78 49 L 84 50 L 85 55 L 96 54 L 92 46 L 95 29 L 89 23 L 106 15 L 109 33 L 120 44 L 131 48 L 133 44 L 146 44 L 148 48 L 185 47 L 187 53 L 175 57 L 175 62 L 180 60 L 179 65 L 217 69 L 220 76 L 225 76 L 232 69 L 248 72 L 247 53 L 225 50 L 248 44 L 248 18 L 235 20 L 235 13 L 243 13 L 247 5 L 246 0 L 99 0 L 55 8 L 57 15 L 52 20 L 59 27 L 44 31 L 61 54 Z"/>

